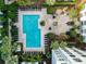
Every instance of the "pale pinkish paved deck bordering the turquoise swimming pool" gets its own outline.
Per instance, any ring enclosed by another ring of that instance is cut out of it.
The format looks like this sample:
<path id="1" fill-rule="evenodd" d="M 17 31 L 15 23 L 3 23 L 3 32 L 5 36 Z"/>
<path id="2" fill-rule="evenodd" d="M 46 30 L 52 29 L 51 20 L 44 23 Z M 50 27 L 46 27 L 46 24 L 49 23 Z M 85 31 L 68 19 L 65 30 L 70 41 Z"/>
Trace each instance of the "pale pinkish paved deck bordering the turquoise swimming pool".
<path id="1" fill-rule="evenodd" d="M 40 48 L 26 48 L 26 34 L 23 33 L 23 14 L 28 15 L 28 14 L 39 14 L 40 18 L 38 20 L 38 28 L 40 29 L 41 33 L 41 47 Z M 45 29 L 39 25 L 39 22 L 42 21 L 44 15 L 46 12 L 41 11 L 19 11 L 19 42 L 23 42 L 23 50 L 25 52 L 27 51 L 38 51 L 38 52 L 45 52 Z"/>

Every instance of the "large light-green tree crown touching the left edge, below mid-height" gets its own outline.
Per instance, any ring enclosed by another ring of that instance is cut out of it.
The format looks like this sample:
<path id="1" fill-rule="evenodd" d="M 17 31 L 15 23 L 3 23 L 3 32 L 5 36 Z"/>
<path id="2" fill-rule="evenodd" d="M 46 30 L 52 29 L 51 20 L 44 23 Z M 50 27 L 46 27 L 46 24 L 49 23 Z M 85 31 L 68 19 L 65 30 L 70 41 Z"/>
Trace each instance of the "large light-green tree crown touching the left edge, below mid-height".
<path id="1" fill-rule="evenodd" d="M 5 36 L 2 39 L 2 46 L 0 48 L 0 51 L 1 51 L 1 56 L 4 61 L 10 57 L 10 55 L 11 55 L 11 42 L 10 42 L 9 37 Z"/>

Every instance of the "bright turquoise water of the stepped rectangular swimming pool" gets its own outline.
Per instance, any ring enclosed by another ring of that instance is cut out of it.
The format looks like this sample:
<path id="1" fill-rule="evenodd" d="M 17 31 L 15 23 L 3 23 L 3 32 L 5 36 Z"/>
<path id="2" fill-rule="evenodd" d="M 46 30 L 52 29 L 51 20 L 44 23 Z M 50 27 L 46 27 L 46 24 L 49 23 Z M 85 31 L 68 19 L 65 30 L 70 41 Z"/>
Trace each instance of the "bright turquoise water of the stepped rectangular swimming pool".
<path id="1" fill-rule="evenodd" d="M 23 15 L 23 33 L 26 34 L 26 48 L 40 47 L 39 15 Z"/>

